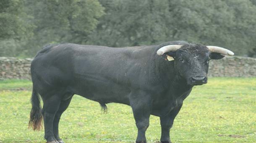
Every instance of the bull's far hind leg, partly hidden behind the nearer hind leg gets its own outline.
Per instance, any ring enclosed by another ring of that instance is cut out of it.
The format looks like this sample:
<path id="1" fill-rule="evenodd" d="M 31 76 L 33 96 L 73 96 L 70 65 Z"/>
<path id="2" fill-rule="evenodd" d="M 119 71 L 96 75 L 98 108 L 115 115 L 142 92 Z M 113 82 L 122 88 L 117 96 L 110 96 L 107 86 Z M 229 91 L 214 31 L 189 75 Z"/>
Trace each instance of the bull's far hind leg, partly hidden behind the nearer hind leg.
<path id="1" fill-rule="evenodd" d="M 59 143 L 64 143 L 63 140 L 59 137 L 60 116 L 68 108 L 68 105 L 71 102 L 72 96 L 73 95 L 71 95 L 71 98 L 68 98 L 67 100 L 62 100 L 61 101 L 59 110 L 55 114 L 55 118 L 53 120 L 53 134 L 54 134 L 55 138 L 57 139 L 57 141 Z"/>

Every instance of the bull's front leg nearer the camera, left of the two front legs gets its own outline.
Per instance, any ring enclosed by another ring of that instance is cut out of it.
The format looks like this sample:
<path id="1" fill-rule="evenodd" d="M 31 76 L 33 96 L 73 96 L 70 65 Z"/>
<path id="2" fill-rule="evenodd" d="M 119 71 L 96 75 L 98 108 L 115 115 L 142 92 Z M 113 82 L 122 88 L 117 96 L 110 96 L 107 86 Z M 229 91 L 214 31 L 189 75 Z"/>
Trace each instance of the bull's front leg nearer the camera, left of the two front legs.
<path id="1" fill-rule="evenodd" d="M 151 113 L 150 96 L 144 92 L 130 96 L 130 105 L 138 128 L 136 143 L 146 143 L 146 129 L 149 127 L 149 116 Z"/>

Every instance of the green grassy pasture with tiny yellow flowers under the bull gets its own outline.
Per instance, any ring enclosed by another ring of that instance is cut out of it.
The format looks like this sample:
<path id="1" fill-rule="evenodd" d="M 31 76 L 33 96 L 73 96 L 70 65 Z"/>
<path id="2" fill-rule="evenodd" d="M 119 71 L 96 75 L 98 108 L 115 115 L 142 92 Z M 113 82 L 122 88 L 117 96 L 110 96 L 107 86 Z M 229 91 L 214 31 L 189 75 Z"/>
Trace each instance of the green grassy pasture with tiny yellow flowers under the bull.
<path id="1" fill-rule="evenodd" d="M 45 143 L 44 131 L 28 129 L 31 81 L 0 81 L 0 143 Z M 75 95 L 60 120 L 65 143 L 133 143 L 137 129 L 130 106 Z M 160 139 L 150 117 L 149 143 Z M 209 78 L 185 99 L 171 129 L 172 143 L 256 143 L 256 78 Z"/>

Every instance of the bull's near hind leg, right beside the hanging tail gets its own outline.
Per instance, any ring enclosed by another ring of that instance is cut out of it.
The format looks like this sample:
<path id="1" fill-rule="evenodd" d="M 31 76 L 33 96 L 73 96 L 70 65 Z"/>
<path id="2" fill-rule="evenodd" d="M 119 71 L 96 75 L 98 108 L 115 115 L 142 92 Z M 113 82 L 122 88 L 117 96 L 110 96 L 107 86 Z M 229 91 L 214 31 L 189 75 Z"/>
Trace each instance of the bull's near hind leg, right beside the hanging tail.
<path id="1" fill-rule="evenodd" d="M 44 118 L 44 138 L 47 143 L 58 143 L 53 134 L 53 120 L 60 107 L 61 98 L 59 95 L 46 96 L 43 98 L 44 106 L 42 114 Z"/>

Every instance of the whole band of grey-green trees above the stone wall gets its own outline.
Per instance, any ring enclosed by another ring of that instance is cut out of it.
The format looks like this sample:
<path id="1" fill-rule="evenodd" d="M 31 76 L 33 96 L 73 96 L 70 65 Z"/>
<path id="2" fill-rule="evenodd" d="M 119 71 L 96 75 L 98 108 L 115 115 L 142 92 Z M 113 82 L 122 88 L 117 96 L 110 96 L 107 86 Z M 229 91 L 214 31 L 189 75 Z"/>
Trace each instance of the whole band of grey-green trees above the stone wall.
<path id="1" fill-rule="evenodd" d="M 125 47 L 185 40 L 256 57 L 256 0 L 1 0 L 0 56 L 48 43 Z"/>

